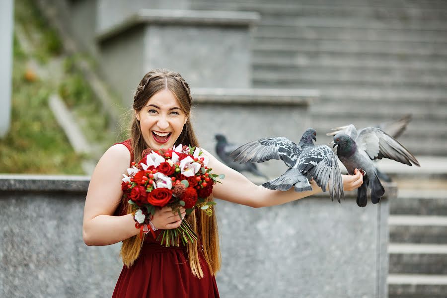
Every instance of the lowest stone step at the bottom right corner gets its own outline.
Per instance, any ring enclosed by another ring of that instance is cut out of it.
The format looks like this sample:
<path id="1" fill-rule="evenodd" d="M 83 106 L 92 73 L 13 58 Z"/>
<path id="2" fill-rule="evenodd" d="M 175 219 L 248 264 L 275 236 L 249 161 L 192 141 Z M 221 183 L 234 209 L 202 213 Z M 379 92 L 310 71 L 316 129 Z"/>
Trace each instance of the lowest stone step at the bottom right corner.
<path id="1" fill-rule="evenodd" d="M 445 298 L 447 275 L 390 274 L 388 298 Z"/>

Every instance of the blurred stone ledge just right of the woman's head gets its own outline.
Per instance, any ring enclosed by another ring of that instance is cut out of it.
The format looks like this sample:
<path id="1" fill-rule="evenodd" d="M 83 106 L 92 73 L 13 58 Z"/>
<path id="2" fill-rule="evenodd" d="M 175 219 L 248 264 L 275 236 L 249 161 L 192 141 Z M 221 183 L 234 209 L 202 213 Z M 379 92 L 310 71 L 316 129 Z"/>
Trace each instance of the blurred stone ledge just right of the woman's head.
<path id="1" fill-rule="evenodd" d="M 320 96 L 315 89 L 191 88 L 193 102 L 308 106 Z"/>

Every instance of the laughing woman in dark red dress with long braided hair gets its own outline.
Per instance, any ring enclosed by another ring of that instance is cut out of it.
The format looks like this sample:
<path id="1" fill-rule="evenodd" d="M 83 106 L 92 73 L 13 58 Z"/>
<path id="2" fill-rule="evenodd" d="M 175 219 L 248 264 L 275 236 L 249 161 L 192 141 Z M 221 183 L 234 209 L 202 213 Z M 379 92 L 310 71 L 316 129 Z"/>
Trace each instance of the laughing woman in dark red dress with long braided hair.
<path id="1" fill-rule="evenodd" d="M 158 235 L 162 229 L 178 227 L 187 220 L 199 240 L 185 247 L 163 247 L 149 233 L 143 243 L 140 229 L 122 200 L 121 178 L 132 161 L 138 161 L 146 148 L 172 148 L 183 144 L 199 146 L 190 122 L 189 85 L 175 72 L 153 70 L 141 80 L 134 96 L 135 118 L 131 138 L 110 147 L 92 174 L 85 201 L 83 239 L 87 245 L 109 245 L 123 241 L 124 266 L 113 297 L 219 297 L 215 273 L 220 268 L 216 217 L 193 212 L 185 219 L 170 208 L 158 209 L 152 224 Z M 272 191 L 257 186 L 227 167 L 206 150 L 208 166 L 225 174 L 216 184 L 212 197 L 254 208 L 273 206 L 316 194 L 321 189 L 312 181 L 312 191 L 297 193 Z M 135 156 L 135 159 L 134 159 Z M 361 186 L 363 176 L 343 175 L 345 190 Z M 104 187 L 107 185 L 108 187 Z"/>

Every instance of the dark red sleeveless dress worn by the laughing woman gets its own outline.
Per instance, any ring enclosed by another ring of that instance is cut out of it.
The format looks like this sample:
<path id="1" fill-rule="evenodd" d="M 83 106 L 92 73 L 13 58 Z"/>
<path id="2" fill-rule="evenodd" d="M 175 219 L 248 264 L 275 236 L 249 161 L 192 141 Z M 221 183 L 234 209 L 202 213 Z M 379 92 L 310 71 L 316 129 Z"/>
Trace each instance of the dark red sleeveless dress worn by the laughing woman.
<path id="1" fill-rule="evenodd" d="M 131 152 L 130 140 L 122 143 Z M 125 215 L 121 202 L 115 216 Z M 160 230 L 155 231 L 156 236 Z M 184 246 L 164 247 L 148 233 L 140 256 L 128 268 L 125 265 L 113 291 L 112 298 L 215 298 L 219 297 L 216 278 L 210 274 L 207 262 L 199 251 L 204 277 L 199 279 L 191 272 Z"/>

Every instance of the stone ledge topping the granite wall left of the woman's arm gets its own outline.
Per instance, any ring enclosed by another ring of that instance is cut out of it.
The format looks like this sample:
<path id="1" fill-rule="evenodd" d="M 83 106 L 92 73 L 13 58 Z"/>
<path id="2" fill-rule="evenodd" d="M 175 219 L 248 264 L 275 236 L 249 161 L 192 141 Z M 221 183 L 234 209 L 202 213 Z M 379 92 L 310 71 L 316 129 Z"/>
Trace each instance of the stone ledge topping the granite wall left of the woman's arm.
<path id="1" fill-rule="evenodd" d="M 0 174 L 1 191 L 87 192 L 89 176 Z"/>

